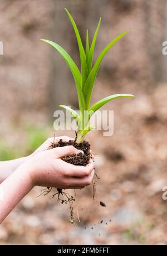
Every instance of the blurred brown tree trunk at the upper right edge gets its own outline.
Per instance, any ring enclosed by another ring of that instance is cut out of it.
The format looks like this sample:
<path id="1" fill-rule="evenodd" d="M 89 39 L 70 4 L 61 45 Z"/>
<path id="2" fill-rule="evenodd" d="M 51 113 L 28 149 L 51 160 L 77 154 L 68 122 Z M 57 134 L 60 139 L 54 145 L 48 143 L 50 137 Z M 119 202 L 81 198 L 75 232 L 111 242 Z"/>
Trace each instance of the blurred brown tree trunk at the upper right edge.
<path id="1" fill-rule="evenodd" d="M 163 0 L 143 0 L 145 12 L 145 37 L 150 62 L 151 81 L 156 83 L 163 80 L 163 29 L 166 13 Z"/>

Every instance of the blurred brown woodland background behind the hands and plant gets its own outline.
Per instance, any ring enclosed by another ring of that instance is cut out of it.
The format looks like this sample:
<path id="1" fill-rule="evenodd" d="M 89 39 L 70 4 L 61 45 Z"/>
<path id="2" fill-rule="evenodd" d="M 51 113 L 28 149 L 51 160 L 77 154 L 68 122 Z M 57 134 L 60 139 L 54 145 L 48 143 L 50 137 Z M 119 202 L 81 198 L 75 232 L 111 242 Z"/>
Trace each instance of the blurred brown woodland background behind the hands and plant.
<path id="1" fill-rule="evenodd" d="M 1 244 L 165 244 L 167 1 L 163 0 L 0 0 L 0 160 L 33 152 L 53 131 L 58 104 L 77 105 L 72 75 L 62 57 L 41 38 L 56 41 L 79 65 L 75 34 L 64 11 L 75 19 L 85 43 L 99 17 L 95 59 L 119 33 L 130 32 L 102 62 L 92 98 L 131 93 L 103 109 L 114 110 L 114 135 L 90 132 L 95 153 L 97 196 L 77 191 L 75 226 L 69 209 L 36 187 L 0 227 Z M 97 139 L 98 138 L 98 139 Z M 73 193 L 73 191 L 71 191 Z M 106 207 L 100 206 L 100 201 Z"/>

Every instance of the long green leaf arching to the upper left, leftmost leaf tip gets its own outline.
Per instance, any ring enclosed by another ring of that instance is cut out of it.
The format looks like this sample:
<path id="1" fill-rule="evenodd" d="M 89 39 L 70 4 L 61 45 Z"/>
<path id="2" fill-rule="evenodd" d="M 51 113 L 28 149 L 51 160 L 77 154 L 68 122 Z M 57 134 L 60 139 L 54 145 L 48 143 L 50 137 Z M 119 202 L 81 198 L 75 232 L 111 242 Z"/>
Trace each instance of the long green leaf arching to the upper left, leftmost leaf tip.
<path id="1" fill-rule="evenodd" d="M 80 106 L 80 111 L 84 112 L 84 110 L 85 110 L 85 98 L 84 98 L 84 94 L 83 94 L 82 89 L 81 89 L 81 73 L 80 73 L 80 70 L 78 70 L 77 65 L 72 60 L 70 55 L 60 45 L 58 45 L 55 42 L 52 42 L 50 40 L 46 40 L 46 39 L 41 39 L 41 41 L 46 42 L 47 44 L 53 46 L 58 52 L 60 52 L 63 59 L 65 59 L 65 61 L 67 62 L 67 65 L 70 68 L 71 73 L 72 73 L 73 78 L 74 78 L 75 83 L 76 83 L 78 103 L 79 103 L 79 106 Z"/>

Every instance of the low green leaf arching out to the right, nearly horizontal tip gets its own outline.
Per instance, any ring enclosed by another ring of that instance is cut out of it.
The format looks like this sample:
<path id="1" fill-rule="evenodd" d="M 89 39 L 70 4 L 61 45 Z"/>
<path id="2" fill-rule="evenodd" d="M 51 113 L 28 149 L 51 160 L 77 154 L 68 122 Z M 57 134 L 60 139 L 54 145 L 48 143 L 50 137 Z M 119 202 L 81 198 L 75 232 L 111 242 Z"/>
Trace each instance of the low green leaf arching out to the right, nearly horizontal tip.
<path id="1" fill-rule="evenodd" d="M 113 99 L 122 98 L 122 97 L 134 97 L 134 95 L 124 93 L 124 94 L 113 94 L 113 95 L 107 96 L 107 97 L 99 100 L 98 102 L 96 102 L 94 105 L 92 105 L 92 107 L 89 109 L 90 117 L 92 114 L 94 114 L 99 108 L 101 108 L 107 102 L 110 102 Z"/>

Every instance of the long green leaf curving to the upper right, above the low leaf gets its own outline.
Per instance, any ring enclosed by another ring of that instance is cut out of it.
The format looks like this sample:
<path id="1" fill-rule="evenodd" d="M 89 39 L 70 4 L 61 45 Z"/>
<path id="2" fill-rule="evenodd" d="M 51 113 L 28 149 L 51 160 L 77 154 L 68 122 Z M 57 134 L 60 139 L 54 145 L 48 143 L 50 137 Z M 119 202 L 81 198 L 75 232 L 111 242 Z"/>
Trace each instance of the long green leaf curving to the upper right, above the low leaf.
<path id="1" fill-rule="evenodd" d="M 90 106 L 90 100 L 92 95 L 92 89 L 94 87 L 97 71 L 99 70 L 100 64 L 104 56 L 106 55 L 107 51 L 110 50 L 110 48 L 115 45 L 117 41 L 120 40 L 121 37 L 126 35 L 126 33 L 129 32 L 129 30 L 126 30 L 124 33 L 121 33 L 121 35 L 117 36 L 114 40 L 110 42 L 109 45 L 105 47 L 105 49 L 101 52 L 99 57 L 97 58 L 94 67 L 92 68 L 89 77 L 86 80 L 85 86 L 84 86 L 84 96 L 86 100 L 86 109 L 89 109 Z"/>

